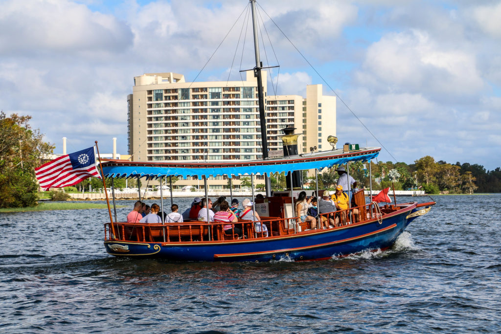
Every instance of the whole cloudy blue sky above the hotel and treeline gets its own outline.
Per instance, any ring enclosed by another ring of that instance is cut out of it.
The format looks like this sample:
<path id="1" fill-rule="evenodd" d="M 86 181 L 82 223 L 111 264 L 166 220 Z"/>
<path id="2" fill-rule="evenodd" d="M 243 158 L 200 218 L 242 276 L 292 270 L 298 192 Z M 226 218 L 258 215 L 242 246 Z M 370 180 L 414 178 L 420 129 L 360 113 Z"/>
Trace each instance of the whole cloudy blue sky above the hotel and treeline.
<path id="1" fill-rule="evenodd" d="M 100 143 L 126 153 L 126 96 L 133 77 L 175 72 L 193 80 L 246 0 L 0 2 L 0 108 L 33 116 L 62 151 Z M 280 64 L 278 91 L 332 87 L 388 149 L 380 160 L 425 155 L 450 163 L 501 166 L 501 2 L 262 0 Z M 197 80 L 226 80 L 242 21 Z M 245 37 L 252 47 L 250 31 Z M 269 65 L 277 65 L 266 36 Z M 241 48 L 241 41 L 240 41 Z M 241 49 L 231 69 L 254 66 Z M 265 58 L 264 50 L 261 51 Z M 272 72 L 277 81 L 278 71 Z M 273 94 L 269 85 L 269 94 Z M 379 146 L 338 101 L 340 142 Z"/>

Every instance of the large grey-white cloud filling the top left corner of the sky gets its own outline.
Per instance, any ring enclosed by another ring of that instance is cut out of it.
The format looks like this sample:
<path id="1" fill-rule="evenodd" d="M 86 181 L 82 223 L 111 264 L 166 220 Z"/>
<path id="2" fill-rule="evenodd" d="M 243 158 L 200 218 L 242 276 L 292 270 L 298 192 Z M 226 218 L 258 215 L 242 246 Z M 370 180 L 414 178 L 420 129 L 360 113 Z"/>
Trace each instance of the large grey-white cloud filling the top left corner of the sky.
<path id="1" fill-rule="evenodd" d="M 112 16 L 65 0 L 0 3 L 0 54 L 118 51 L 132 33 Z"/>

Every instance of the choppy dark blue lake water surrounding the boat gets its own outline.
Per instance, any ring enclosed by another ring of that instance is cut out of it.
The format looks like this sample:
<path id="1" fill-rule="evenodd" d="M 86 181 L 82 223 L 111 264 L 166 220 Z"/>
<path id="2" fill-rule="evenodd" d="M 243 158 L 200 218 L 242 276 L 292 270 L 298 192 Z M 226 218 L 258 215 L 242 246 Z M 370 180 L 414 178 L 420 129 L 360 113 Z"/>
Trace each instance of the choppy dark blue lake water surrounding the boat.
<path id="1" fill-rule="evenodd" d="M 499 332 L 501 195 L 434 199 L 393 249 L 306 263 L 117 259 L 107 210 L 0 213 L 0 332 Z"/>

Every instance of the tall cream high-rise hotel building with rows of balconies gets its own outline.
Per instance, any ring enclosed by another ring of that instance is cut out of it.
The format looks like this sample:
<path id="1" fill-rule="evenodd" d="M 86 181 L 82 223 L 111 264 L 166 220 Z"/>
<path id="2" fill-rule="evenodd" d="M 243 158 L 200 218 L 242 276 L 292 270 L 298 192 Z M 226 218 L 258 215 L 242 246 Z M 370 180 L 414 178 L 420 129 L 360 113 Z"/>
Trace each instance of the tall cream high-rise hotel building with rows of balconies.
<path id="1" fill-rule="evenodd" d="M 336 135 L 336 99 L 322 85 L 298 95 L 267 96 L 263 83 L 270 151 L 282 149 L 281 129 L 297 128 L 300 151 L 330 149 Z M 225 162 L 262 157 L 257 80 L 185 82 L 175 73 L 134 78 L 128 95 L 128 151 L 134 161 Z M 273 154 L 271 154 L 273 155 Z"/>

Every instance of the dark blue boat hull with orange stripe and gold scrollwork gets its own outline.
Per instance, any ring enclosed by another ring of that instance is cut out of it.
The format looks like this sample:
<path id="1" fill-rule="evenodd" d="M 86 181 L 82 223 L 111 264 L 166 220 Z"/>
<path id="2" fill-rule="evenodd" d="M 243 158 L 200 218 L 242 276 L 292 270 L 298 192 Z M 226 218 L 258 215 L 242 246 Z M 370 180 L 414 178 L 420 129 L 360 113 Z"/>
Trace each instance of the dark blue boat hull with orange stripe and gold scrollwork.
<path id="1" fill-rule="evenodd" d="M 185 243 L 105 241 L 114 256 L 157 257 L 172 261 L 322 260 L 364 250 L 387 249 L 424 207 L 406 203 L 400 210 L 327 230 L 269 238 Z M 414 215 L 413 215 L 414 214 Z"/>

